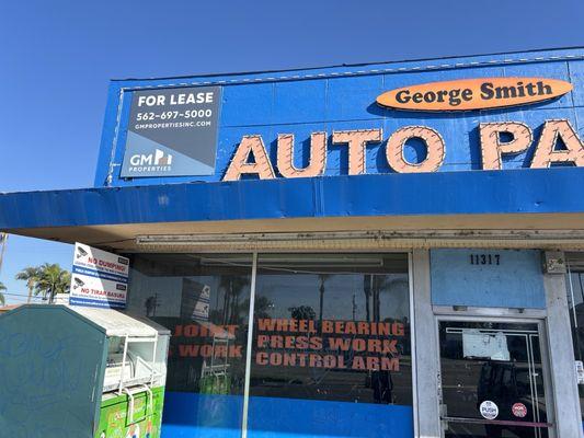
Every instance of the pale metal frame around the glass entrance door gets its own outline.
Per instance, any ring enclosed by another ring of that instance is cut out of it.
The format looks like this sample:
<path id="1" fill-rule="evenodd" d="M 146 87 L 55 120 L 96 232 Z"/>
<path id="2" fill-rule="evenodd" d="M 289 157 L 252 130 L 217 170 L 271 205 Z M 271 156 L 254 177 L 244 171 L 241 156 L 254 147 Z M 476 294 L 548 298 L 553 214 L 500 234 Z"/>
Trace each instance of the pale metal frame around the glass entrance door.
<path id="1" fill-rule="evenodd" d="M 437 310 L 437 311 L 436 311 Z M 443 312 L 440 312 L 443 310 Z M 556 434 L 556 412 L 553 403 L 553 387 L 551 383 L 551 372 L 550 372 L 550 354 L 548 349 L 548 332 L 546 326 L 546 318 L 542 312 L 525 312 L 516 313 L 517 316 L 513 315 L 513 312 L 505 312 L 504 316 L 497 316 L 495 313 L 501 314 L 501 309 L 472 309 L 463 311 L 454 311 L 453 308 L 446 309 L 435 309 L 435 333 L 436 333 L 436 345 L 437 345 L 437 358 L 438 361 L 438 390 L 439 394 L 437 397 L 438 402 L 438 412 L 440 412 L 440 402 L 443 400 L 442 394 L 442 362 L 440 362 L 440 333 L 439 333 L 439 323 L 443 321 L 463 321 L 463 322 L 496 322 L 496 323 L 527 323 L 527 324 L 537 324 L 538 334 L 539 334 L 539 348 L 541 354 L 541 369 L 543 373 L 543 388 L 546 390 L 546 412 L 548 415 L 548 423 L 551 423 L 552 426 L 548 428 L 549 437 L 557 438 Z M 442 415 L 440 415 L 442 417 Z M 440 422 L 440 438 L 445 438 L 444 428 L 442 427 Z"/>

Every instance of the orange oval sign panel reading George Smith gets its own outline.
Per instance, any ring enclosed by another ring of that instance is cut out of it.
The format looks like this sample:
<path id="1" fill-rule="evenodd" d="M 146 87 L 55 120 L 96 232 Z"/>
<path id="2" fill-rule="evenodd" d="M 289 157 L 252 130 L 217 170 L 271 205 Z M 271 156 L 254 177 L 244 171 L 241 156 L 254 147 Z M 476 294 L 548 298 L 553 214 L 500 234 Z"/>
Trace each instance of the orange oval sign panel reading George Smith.
<path id="1" fill-rule="evenodd" d="M 377 103 L 409 111 L 469 111 L 525 105 L 559 97 L 572 84 L 547 78 L 482 78 L 430 82 L 388 91 Z"/>

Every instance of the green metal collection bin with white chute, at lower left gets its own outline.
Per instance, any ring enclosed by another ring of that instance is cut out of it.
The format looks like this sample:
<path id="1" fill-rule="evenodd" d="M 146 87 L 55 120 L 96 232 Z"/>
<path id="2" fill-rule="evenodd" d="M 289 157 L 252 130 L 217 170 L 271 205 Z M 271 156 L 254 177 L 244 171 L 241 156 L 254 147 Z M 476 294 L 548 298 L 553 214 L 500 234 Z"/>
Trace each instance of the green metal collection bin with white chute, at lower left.
<path id="1" fill-rule="evenodd" d="M 0 435 L 159 438 L 169 339 L 112 309 L 25 304 L 0 315 Z"/>

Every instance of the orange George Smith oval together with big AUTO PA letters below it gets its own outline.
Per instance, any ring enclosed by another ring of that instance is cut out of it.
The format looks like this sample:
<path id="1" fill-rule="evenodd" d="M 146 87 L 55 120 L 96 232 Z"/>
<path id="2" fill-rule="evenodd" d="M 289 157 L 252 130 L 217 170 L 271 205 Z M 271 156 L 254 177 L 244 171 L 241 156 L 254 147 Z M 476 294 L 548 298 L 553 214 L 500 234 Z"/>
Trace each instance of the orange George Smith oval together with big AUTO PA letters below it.
<path id="1" fill-rule="evenodd" d="M 485 78 L 410 85 L 382 93 L 377 103 L 385 107 L 416 112 L 459 112 L 534 104 L 559 97 L 572 90 L 572 84 L 545 78 Z M 399 116 L 399 115 L 398 115 Z M 541 128 L 537 138 L 534 129 Z M 565 118 L 547 119 L 541 126 L 523 122 L 479 123 L 481 168 L 502 169 L 503 158 L 526 152 L 535 143 L 529 168 L 552 165 L 584 166 L 584 145 Z M 330 139 L 330 141 L 329 141 Z M 366 148 L 385 146 L 385 160 L 398 173 L 436 172 L 444 163 L 448 145 L 440 132 L 423 125 L 409 125 L 391 132 L 383 129 L 348 129 L 314 131 L 310 135 L 308 165 L 295 165 L 294 134 L 279 134 L 276 160 L 273 162 L 261 135 L 243 136 L 224 175 L 224 181 L 238 181 L 256 175 L 262 180 L 276 177 L 314 177 L 327 170 L 329 143 L 347 148 L 348 174 L 366 173 Z M 305 139 L 299 139 L 305 141 Z M 409 141 L 422 142 L 425 158 L 408 161 L 404 148 Z"/>

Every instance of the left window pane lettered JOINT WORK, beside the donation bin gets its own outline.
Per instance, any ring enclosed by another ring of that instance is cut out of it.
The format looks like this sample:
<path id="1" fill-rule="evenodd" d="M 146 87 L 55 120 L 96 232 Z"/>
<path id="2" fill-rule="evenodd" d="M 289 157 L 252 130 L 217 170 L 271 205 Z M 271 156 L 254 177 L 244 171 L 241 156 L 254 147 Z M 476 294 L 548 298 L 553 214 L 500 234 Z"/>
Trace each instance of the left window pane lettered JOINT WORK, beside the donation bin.
<path id="1" fill-rule="evenodd" d="M 172 331 L 168 436 L 241 435 L 251 255 L 140 254 L 128 310 Z"/>

